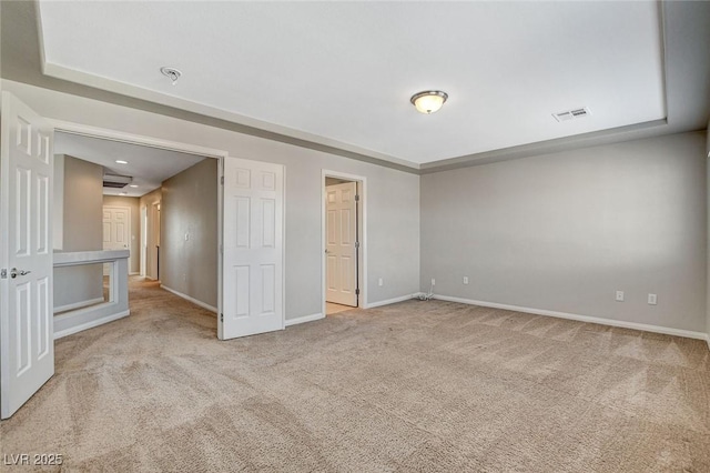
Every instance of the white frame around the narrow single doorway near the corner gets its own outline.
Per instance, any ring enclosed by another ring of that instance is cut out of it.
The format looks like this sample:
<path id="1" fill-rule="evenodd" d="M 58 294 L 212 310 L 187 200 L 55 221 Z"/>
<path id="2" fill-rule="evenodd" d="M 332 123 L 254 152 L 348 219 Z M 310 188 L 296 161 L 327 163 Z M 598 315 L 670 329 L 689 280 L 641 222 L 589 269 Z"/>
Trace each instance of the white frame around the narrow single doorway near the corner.
<path id="1" fill-rule="evenodd" d="M 359 205 L 357 212 L 359 251 L 357 253 L 357 285 L 359 288 L 359 296 L 357 298 L 357 306 L 367 309 L 369 306 L 367 302 L 367 178 L 364 175 L 349 174 L 346 172 L 331 171 L 323 169 L 321 172 L 321 301 L 322 301 L 322 314 L 325 318 L 327 294 L 327 273 L 326 273 L 326 258 L 325 258 L 325 244 L 327 241 L 327 223 L 326 223 L 326 204 L 327 193 L 325 179 L 345 179 L 347 181 L 354 181 L 357 184 L 357 194 L 359 195 Z"/>

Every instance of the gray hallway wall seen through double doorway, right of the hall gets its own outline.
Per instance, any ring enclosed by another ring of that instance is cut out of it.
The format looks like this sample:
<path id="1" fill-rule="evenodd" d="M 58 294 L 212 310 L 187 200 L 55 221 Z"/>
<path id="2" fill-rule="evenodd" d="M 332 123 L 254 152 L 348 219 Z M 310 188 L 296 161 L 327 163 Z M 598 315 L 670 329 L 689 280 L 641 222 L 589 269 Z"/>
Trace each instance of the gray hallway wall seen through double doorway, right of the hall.
<path id="1" fill-rule="evenodd" d="M 164 181 L 161 203 L 161 283 L 213 308 L 217 306 L 217 163 L 205 159 Z"/>

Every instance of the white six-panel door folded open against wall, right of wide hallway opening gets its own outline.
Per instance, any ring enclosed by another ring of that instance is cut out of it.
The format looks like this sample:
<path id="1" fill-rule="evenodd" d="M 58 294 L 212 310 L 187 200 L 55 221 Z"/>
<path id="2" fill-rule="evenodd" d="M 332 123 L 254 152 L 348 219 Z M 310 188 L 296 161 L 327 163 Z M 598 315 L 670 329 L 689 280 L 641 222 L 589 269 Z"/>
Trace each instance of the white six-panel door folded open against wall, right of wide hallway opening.
<path id="1" fill-rule="evenodd" d="M 224 160 L 222 340 L 284 328 L 284 168 Z"/>

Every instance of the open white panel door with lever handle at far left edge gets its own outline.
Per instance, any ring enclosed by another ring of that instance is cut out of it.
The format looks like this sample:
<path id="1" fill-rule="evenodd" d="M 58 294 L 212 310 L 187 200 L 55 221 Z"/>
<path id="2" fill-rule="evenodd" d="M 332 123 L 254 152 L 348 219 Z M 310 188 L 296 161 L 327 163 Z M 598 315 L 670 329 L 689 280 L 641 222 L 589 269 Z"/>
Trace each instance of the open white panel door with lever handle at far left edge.
<path id="1" fill-rule="evenodd" d="M 54 374 L 53 129 L 2 92 L 0 154 L 0 414 Z"/>

